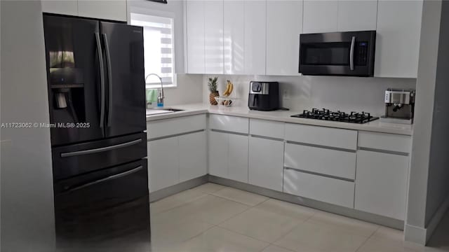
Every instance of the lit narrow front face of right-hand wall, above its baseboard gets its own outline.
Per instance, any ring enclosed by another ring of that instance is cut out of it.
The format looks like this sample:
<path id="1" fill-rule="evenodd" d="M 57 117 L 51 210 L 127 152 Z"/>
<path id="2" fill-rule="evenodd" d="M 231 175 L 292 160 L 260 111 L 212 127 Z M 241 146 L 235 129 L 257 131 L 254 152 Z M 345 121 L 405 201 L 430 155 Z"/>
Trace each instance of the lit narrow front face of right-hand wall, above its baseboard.
<path id="1" fill-rule="evenodd" d="M 434 110 L 432 104 L 434 104 L 440 18 L 441 1 L 424 1 L 406 220 L 407 225 L 421 228 L 424 228 L 427 197 L 427 172 Z"/>

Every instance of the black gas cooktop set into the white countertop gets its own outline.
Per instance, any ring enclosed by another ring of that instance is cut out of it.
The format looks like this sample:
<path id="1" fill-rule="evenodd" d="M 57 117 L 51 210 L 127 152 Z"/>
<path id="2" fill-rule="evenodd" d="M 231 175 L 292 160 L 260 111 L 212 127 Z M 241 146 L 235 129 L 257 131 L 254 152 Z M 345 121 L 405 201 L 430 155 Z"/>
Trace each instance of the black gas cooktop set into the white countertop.
<path id="1" fill-rule="evenodd" d="M 330 111 L 329 109 L 311 109 L 311 111 L 304 110 L 302 113 L 293 115 L 291 117 L 331 120 L 343 123 L 368 123 L 370 121 L 379 119 L 378 117 L 373 117 L 370 115 L 370 113 L 366 113 L 363 111 L 344 113 L 342 111 Z"/>

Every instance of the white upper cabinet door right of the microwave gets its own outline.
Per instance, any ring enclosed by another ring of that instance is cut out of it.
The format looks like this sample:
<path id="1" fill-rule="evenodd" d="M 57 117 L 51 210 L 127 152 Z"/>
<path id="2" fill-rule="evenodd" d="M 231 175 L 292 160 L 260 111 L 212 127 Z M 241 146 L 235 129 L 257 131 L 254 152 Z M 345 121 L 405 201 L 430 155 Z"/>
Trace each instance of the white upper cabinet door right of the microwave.
<path id="1" fill-rule="evenodd" d="M 416 78 L 422 1 L 379 1 L 374 76 Z"/>

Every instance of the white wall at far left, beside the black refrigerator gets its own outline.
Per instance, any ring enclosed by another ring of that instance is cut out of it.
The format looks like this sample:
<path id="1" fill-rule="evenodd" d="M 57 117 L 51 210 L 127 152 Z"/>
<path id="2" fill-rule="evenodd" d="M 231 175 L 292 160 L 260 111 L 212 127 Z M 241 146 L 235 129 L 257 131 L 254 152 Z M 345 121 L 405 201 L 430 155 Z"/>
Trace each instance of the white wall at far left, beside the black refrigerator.
<path id="1" fill-rule="evenodd" d="M 40 1 L 0 1 L 1 123 L 48 123 Z M 50 130 L 1 129 L 1 251 L 53 251 Z"/>

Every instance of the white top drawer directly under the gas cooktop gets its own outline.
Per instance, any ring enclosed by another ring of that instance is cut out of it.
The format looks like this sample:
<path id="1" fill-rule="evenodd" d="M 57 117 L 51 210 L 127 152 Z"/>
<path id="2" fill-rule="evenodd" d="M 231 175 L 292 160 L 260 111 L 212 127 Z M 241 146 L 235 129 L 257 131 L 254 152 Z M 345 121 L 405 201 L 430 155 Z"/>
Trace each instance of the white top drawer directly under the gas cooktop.
<path id="1" fill-rule="evenodd" d="M 356 150 L 357 131 L 286 123 L 286 140 Z"/>

